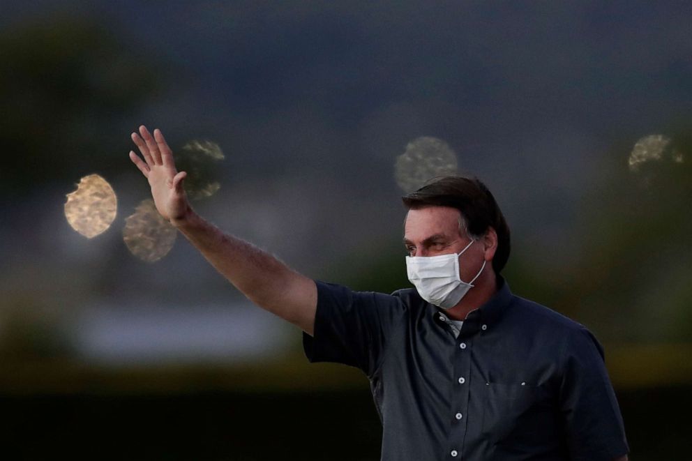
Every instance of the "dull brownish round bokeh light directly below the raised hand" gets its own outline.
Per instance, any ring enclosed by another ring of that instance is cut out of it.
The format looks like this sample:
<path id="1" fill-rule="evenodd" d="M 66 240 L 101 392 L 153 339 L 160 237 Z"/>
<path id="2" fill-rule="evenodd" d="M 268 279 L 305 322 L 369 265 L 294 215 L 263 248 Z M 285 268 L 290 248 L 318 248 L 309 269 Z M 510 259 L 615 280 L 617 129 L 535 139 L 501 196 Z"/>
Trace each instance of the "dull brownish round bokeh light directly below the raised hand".
<path id="1" fill-rule="evenodd" d="M 140 202 L 135 213 L 125 219 L 123 241 L 144 262 L 156 262 L 167 255 L 176 235 L 176 229 L 161 217 L 151 199 Z"/>

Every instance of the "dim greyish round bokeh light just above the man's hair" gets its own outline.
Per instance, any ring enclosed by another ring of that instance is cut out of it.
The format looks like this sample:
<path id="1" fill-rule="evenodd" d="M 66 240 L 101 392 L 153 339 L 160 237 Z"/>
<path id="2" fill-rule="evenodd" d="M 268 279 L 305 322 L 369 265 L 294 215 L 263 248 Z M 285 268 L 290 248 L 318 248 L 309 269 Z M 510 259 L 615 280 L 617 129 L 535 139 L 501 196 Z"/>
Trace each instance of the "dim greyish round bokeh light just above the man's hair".
<path id="1" fill-rule="evenodd" d="M 407 193 L 420 188 L 430 178 L 456 172 L 456 153 L 442 139 L 429 136 L 409 142 L 394 165 L 396 183 Z"/>

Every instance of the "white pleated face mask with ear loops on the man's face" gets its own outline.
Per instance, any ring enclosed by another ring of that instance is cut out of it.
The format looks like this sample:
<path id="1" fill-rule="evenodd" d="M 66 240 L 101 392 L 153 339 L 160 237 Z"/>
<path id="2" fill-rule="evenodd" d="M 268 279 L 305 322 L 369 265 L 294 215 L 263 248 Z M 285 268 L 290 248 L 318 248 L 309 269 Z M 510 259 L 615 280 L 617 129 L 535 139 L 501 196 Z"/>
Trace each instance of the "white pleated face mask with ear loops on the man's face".
<path id="1" fill-rule="evenodd" d="M 416 287 L 421 298 L 443 309 L 451 309 L 461 301 L 486 267 L 486 262 L 483 261 L 481 270 L 473 280 L 470 282 L 461 280 L 459 257 L 473 243 L 474 240 L 469 242 L 461 252 L 450 255 L 406 257 L 409 281 Z"/>

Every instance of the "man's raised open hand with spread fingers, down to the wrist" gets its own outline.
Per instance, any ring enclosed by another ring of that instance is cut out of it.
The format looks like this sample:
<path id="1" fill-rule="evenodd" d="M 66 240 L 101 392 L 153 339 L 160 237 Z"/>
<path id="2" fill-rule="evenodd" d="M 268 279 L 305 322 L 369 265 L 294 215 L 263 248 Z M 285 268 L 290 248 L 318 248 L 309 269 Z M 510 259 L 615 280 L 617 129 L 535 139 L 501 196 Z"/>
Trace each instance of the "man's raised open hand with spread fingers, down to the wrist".
<path id="1" fill-rule="evenodd" d="M 187 173 L 176 171 L 173 153 L 163 134 L 157 128 L 153 130 L 152 136 L 142 125 L 140 133 L 133 133 L 131 137 L 144 160 L 133 151 L 130 151 L 130 160 L 149 180 L 156 209 L 163 218 L 170 221 L 184 218 L 190 210 L 188 197 L 183 189 L 183 179 Z"/>

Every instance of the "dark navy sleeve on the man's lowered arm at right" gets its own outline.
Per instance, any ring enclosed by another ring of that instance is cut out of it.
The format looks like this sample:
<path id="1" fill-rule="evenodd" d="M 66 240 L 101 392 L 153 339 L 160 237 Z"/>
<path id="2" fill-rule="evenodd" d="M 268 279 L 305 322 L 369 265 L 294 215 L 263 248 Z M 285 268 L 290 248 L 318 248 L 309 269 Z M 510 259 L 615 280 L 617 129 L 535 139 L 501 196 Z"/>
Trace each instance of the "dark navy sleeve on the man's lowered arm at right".
<path id="1" fill-rule="evenodd" d="M 566 340 L 560 409 L 570 460 L 612 461 L 629 452 L 603 347 L 586 329 Z"/>

